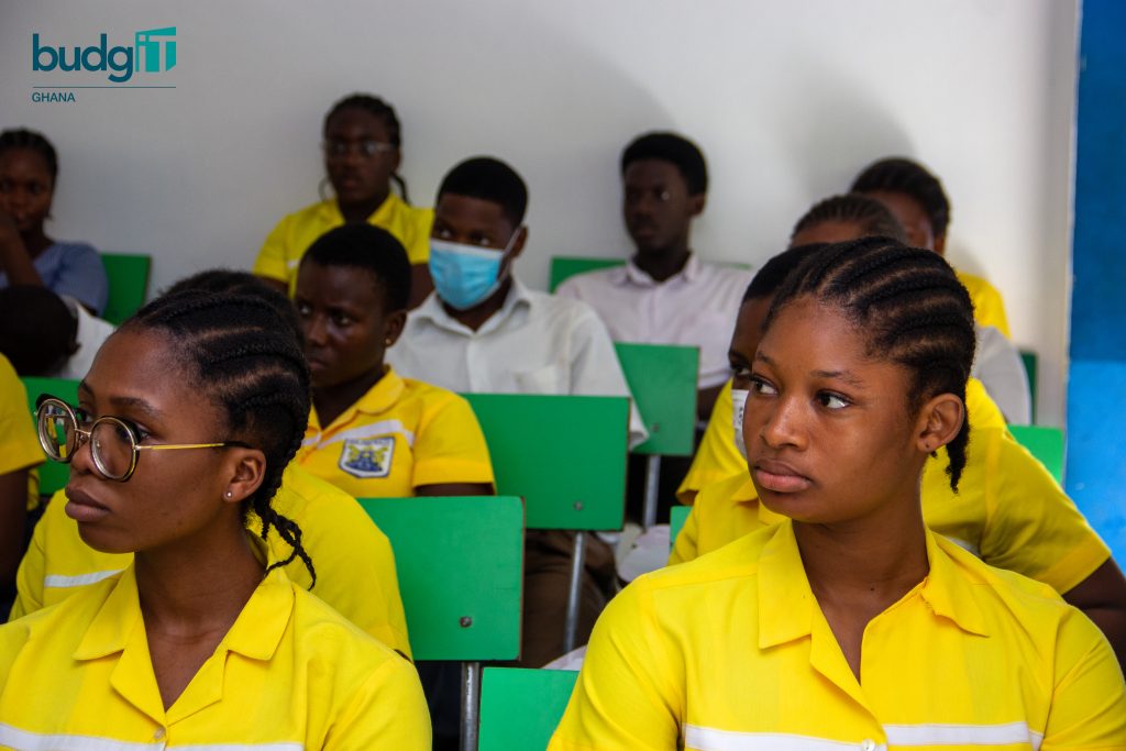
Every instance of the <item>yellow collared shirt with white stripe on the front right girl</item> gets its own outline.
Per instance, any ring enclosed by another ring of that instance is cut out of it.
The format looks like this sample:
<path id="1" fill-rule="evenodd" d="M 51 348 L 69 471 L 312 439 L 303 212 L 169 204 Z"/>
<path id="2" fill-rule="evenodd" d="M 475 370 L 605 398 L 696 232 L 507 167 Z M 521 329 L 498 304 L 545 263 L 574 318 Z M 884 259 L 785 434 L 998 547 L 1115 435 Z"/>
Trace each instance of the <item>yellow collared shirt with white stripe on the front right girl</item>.
<path id="1" fill-rule="evenodd" d="M 1126 748 L 1121 671 L 1083 614 L 929 531 L 927 555 L 865 628 L 860 682 L 788 520 L 641 576 L 599 618 L 548 749 Z"/>

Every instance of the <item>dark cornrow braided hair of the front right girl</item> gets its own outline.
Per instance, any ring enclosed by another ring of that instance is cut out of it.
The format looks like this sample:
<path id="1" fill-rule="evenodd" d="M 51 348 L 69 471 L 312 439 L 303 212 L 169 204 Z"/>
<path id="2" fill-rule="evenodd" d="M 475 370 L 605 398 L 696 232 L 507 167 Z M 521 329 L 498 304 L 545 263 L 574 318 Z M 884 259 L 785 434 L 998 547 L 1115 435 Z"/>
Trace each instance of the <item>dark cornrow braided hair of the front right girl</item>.
<path id="1" fill-rule="evenodd" d="M 954 394 L 965 404 L 974 360 L 974 309 L 969 293 L 938 253 L 888 238 L 825 245 L 783 283 L 763 330 L 799 297 L 834 306 L 867 337 L 869 355 L 911 372 L 912 414 L 937 394 Z M 968 442 L 966 415 L 946 447 L 946 472 L 955 492 Z"/>

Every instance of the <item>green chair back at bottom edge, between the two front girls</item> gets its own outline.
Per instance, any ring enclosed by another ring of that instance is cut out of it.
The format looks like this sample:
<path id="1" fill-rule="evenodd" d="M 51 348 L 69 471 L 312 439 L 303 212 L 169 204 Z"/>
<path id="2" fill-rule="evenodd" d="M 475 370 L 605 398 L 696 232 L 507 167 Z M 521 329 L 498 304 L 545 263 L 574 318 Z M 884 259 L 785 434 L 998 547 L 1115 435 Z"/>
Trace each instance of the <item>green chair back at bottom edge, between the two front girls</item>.
<path id="1" fill-rule="evenodd" d="M 573 670 L 485 668 L 479 751 L 544 751 L 578 677 Z"/>

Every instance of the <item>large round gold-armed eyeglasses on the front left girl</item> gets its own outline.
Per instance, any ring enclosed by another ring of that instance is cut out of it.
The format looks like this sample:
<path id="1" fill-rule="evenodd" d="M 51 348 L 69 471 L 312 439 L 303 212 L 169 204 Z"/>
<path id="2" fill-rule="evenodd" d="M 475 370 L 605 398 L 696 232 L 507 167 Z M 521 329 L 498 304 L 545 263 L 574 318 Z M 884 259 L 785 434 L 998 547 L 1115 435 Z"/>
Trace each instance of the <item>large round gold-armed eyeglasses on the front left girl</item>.
<path id="1" fill-rule="evenodd" d="M 44 394 L 36 402 L 36 428 L 39 446 L 55 462 L 70 464 L 82 444 L 90 444 L 93 464 L 107 480 L 125 482 L 137 468 L 141 452 L 169 452 L 187 448 L 227 448 L 247 444 L 222 441 L 215 444 L 157 444 L 140 446 L 140 430 L 128 420 L 106 415 L 89 420 L 86 412 L 75 410 L 55 396 Z"/>

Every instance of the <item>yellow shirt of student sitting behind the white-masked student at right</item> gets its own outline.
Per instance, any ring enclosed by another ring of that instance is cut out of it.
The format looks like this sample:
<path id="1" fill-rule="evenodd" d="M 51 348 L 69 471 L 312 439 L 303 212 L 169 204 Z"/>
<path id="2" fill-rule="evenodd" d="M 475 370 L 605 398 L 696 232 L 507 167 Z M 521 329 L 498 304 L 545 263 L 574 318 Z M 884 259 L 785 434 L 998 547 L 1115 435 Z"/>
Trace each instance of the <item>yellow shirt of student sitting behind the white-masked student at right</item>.
<path id="1" fill-rule="evenodd" d="M 985 393 L 985 386 L 977 378 L 966 382 L 966 413 L 971 415 L 973 428 L 1004 428 L 1004 415 L 997 403 Z M 733 428 L 734 405 L 731 401 L 731 381 L 720 391 L 708 419 L 704 438 L 696 449 L 696 456 L 688 468 L 677 498 L 681 503 L 691 503 L 691 497 L 706 485 L 726 480 L 732 475 L 747 473 L 747 461 L 735 449 L 735 432 Z M 945 467 L 945 458 L 942 459 Z"/>

